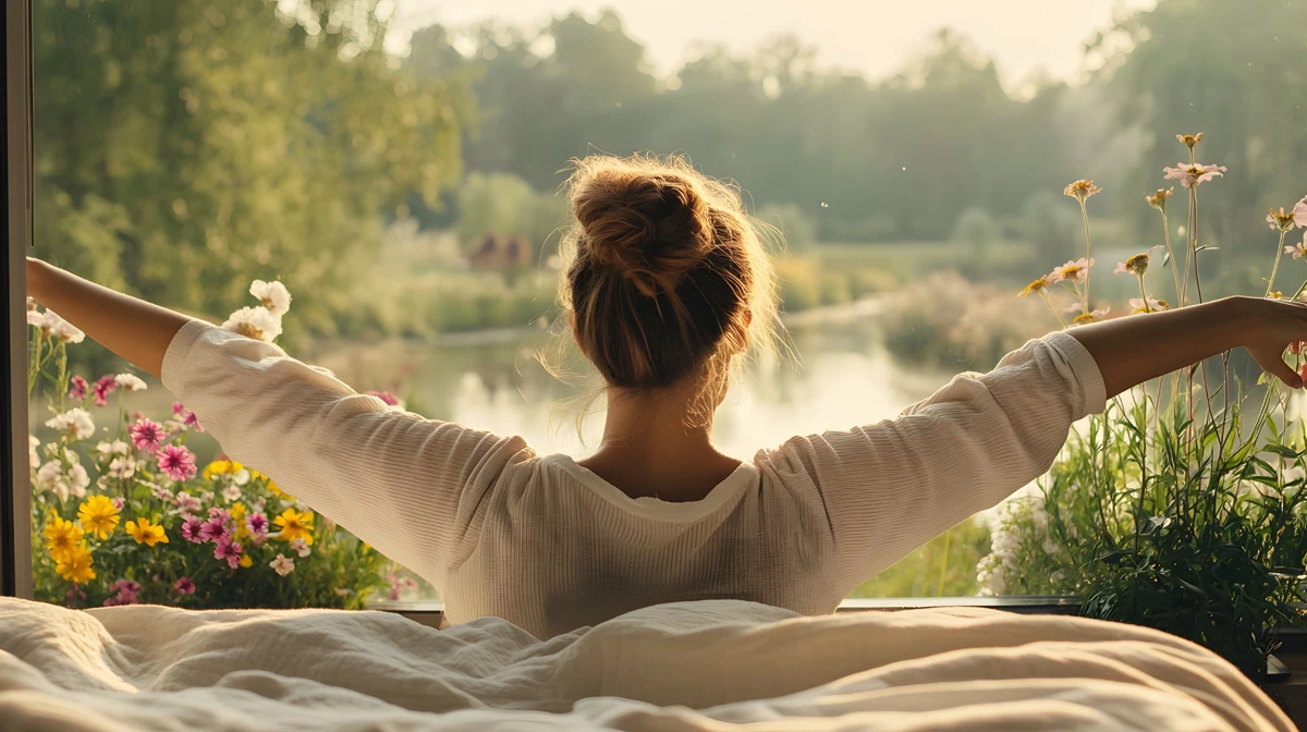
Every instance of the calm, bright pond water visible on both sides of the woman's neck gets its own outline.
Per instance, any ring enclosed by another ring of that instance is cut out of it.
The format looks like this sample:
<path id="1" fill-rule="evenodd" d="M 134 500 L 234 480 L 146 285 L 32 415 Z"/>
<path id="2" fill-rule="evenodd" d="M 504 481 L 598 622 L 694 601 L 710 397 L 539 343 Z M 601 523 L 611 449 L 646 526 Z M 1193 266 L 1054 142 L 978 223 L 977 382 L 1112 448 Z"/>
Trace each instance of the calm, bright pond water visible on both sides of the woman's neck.
<path id="1" fill-rule="evenodd" d="M 714 439 L 750 459 L 796 434 L 847 429 L 893 417 L 951 374 L 908 367 L 886 352 L 873 303 L 805 314 L 788 323 L 797 358 L 753 365 L 718 410 Z M 359 390 L 389 390 L 426 417 L 501 435 L 537 452 L 576 458 L 597 444 L 603 417 L 583 422 L 567 404 L 576 390 L 544 371 L 533 353 L 544 333 L 503 332 L 437 342 L 323 345 L 301 358 Z"/>

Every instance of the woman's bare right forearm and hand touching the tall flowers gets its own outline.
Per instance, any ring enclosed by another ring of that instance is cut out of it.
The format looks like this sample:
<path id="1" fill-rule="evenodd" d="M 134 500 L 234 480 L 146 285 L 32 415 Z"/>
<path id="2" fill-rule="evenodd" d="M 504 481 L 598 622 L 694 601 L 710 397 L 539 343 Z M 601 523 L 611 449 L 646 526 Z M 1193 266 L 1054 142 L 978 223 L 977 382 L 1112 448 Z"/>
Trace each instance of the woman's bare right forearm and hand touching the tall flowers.
<path id="1" fill-rule="evenodd" d="M 1307 305 L 1298 302 L 1234 297 L 1067 332 L 1098 362 L 1108 397 L 1240 345 L 1289 387 L 1303 386 L 1283 359 L 1290 342 L 1307 340 Z"/>

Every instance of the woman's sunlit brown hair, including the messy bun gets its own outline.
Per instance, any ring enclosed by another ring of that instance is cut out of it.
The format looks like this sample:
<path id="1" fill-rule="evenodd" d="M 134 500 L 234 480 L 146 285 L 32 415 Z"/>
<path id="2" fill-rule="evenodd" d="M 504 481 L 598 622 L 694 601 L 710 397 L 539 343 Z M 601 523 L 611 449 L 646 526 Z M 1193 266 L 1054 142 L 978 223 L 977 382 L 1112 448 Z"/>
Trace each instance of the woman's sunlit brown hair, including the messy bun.
<path id="1" fill-rule="evenodd" d="M 567 188 L 559 299 L 608 386 L 724 388 L 748 349 L 771 348 L 774 274 L 736 188 L 654 156 L 576 161 Z"/>

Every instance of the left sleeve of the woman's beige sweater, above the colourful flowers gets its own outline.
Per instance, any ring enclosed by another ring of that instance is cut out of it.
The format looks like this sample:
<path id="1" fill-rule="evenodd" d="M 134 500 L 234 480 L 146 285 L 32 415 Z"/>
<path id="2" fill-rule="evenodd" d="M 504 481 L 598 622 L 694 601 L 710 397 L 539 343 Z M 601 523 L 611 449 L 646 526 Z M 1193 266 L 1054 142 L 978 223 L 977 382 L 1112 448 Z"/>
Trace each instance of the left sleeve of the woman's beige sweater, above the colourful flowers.
<path id="1" fill-rule="evenodd" d="M 199 320 L 173 337 L 162 378 L 233 459 L 433 580 L 480 523 L 484 493 L 528 452 L 519 438 L 423 420 Z"/>

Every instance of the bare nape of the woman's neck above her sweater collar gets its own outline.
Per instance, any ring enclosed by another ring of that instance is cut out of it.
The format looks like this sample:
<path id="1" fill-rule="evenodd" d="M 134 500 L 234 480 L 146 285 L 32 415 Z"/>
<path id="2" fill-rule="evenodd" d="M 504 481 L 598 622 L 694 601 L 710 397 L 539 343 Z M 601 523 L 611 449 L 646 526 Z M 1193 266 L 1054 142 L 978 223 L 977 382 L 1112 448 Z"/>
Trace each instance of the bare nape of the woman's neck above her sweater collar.
<path id="1" fill-rule="evenodd" d="M 613 390 L 603 442 L 580 465 L 631 498 L 702 499 L 740 460 L 712 447 L 711 414 L 693 422 L 686 418 L 694 400 L 690 390 Z"/>

